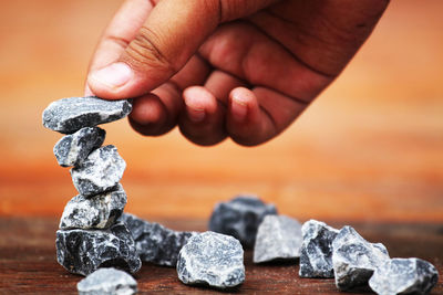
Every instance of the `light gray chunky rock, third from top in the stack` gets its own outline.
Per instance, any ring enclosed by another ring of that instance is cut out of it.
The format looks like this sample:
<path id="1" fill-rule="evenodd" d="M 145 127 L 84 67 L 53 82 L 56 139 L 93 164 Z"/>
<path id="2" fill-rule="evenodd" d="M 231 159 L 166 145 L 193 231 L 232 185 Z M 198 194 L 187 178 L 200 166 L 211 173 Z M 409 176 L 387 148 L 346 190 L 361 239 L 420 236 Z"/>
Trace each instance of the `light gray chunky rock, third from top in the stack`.
<path id="1" fill-rule="evenodd" d="M 104 146 L 91 152 L 80 165 L 71 169 L 74 187 L 85 197 L 113 190 L 119 185 L 126 162 L 116 147 Z"/>

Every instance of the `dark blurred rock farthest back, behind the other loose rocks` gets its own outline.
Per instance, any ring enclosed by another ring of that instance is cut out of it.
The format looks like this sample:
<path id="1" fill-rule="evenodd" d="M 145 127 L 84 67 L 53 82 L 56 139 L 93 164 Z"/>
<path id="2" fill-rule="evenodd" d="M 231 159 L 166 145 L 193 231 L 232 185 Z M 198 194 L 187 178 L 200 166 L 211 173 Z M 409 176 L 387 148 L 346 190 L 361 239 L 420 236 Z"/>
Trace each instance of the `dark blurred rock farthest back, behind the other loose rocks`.
<path id="1" fill-rule="evenodd" d="M 253 247 L 257 228 L 268 214 L 277 214 L 274 204 L 265 204 L 255 196 L 238 196 L 228 202 L 215 206 L 209 220 L 209 230 L 233 235 L 245 247 Z"/>

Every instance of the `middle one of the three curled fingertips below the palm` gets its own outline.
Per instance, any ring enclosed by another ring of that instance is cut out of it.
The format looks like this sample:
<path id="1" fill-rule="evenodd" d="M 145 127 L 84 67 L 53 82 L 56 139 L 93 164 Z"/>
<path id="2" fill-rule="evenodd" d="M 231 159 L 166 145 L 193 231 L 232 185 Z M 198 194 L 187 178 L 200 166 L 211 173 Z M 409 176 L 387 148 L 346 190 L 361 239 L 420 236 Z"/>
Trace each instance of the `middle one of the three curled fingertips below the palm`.
<path id="1" fill-rule="evenodd" d="M 185 114 L 181 117 L 179 129 L 190 141 L 210 146 L 226 138 L 224 126 L 225 107 L 207 88 L 192 86 L 183 93 Z"/>

